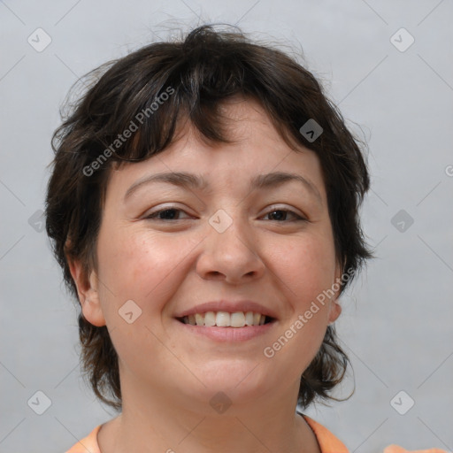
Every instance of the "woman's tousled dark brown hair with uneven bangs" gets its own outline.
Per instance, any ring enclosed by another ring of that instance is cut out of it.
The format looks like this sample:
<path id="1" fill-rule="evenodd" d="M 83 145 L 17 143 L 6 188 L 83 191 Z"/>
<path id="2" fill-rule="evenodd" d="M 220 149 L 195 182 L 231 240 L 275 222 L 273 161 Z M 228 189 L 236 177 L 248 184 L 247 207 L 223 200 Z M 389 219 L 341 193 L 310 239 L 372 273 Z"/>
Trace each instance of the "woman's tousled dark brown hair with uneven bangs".
<path id="1" fill-rule="evenodd" d="M 372 257 L 358 216 L 370 184 L 358 141 L 317 79 L 286 53 L 252 42 L 239 30 L 205 25 L 180 41 L 151 43 L 88 75 L 96 82 L 52 137 L 55 158 L 46 198 L 47 234 L 73 296 L 77 288 L 68 259 L 80 260 L 87 275 L 96 269 L 111 165 L 165 150 L 182 119 L 203 140 L 230 142 L 219 104 L 236 95 L 257 101 L 292 149 L 299 143 L 318 155 L 336 257 L 350 277 L 342 280 L 341 293 Z M 310 119 L 322 127 L 316 140 L 301 132 Z M 133 123 L 137 130 L 132 131 Z M 126 130 L 132 131 L 130 140 L 115 142 Z M 101 401 L 120 410 L 118 356 L 106 326 L 93 326 L 80 313 L 79 334 L 91 387 Z M 316 396 L 333 398 L 330 391 L 341 382 L 348 362 L 334 326 L 327 326 L 318 354 L 301 376 L 297 403 L 306 407 Z"/>

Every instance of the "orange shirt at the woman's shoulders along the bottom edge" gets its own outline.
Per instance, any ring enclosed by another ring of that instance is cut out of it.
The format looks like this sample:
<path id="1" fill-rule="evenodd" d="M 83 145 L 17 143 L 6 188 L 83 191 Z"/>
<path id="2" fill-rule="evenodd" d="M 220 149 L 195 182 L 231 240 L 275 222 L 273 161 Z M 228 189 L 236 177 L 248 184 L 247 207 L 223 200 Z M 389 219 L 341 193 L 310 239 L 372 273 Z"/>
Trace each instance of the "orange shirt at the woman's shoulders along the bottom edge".
<path id="1" fill-rule="evenodd" d="M 325 426 L 320 425 L 306 415 L 303 416 L 308 426 L 316 436 L 319 443 L 321 453 L 349 453 L 344 443 L 334 436 Z M 71 449 L 65 453 L 101 453 L 99 445 L 97 444 L 97 432 L 101 429 L 102 425 L 96 426 L 87 437 L 78 441 Z M 397 445 L 389 445 L 384 449 L 383 453 L 407 453 L 409 450 L 398 447 Z M 411 453 L 448 453 L 443 449 L 423 449 L 411 450 Z"/>

